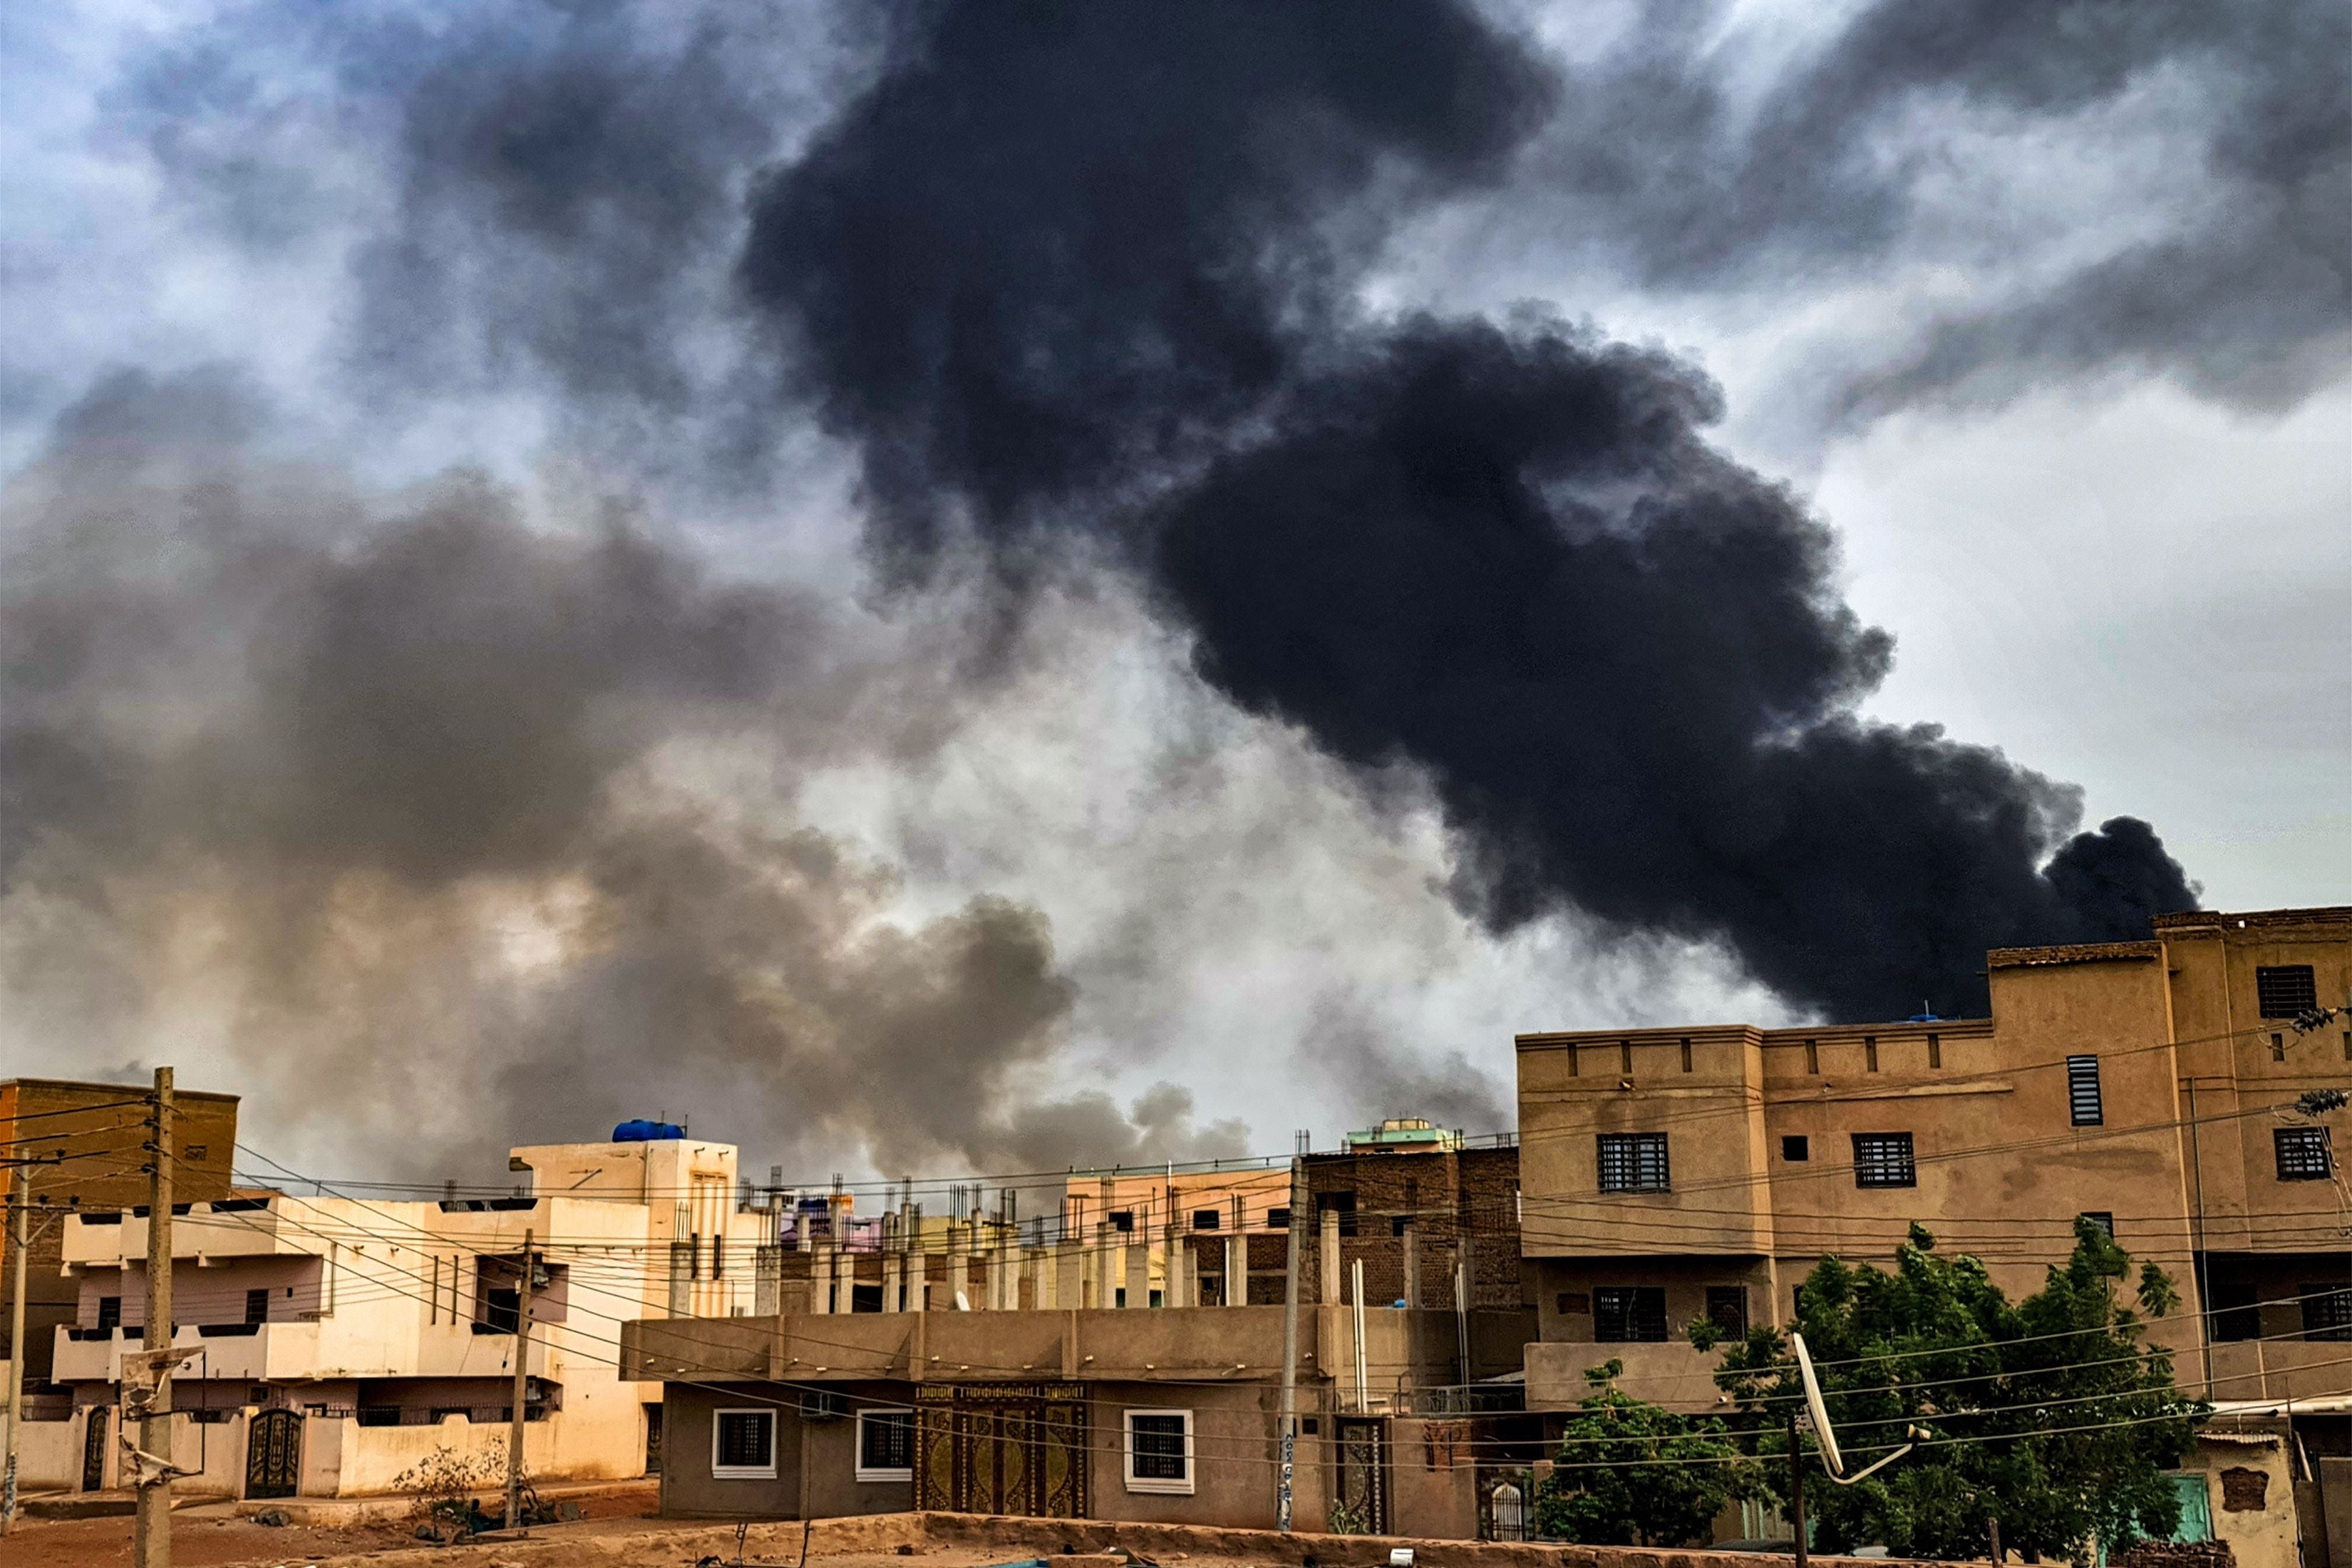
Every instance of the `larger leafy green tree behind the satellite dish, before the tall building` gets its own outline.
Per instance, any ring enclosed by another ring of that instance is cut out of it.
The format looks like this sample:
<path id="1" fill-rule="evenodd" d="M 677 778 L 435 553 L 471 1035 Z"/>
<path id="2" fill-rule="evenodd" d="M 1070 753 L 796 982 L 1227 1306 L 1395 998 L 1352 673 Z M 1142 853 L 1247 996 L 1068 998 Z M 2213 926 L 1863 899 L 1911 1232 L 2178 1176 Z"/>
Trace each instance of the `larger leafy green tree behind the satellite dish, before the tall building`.
<path id="1" fill-rule="evenodd" d="M 1806 1512 L 1823 1549 L 1884 1544 L 1896 1556 L 1985 1554 L 1985 1519 L 2027 1556 L 2089 1563 L 2164 1537 L 2178 1502 L 2164 1479 L 2206 1408 L 2173 1387 L 2173 1359 L 2147 1342 L 2147 1319 L 2180 1305 L 2173 1281 L 2131 1258 L 2091 1220 L 2042 1291 L 2011 1302 L 1969 1255 L 1943 1255 L 1912 1225 L 1893 1272 L 1823 1258 L 1797 1291 L 1797 1328 L 1820 1371 L 1830 1420 L 1851 1467 L 1903 1441 L 1919 1448 L 1856 1486 L 1830 1486 L 1811 1462 Z M 1712 1326 L 1693 1326 L 1700 1347 Z M 1788 1340 L 1750 1331 L 1717 1371 L 1759 1453 L 1785 1455 L 1785 1410 L 1802 1408 Z M 1811 1443 L 1806 1441 L 1806 1448 Z M 1788 1462 L 1762 1483 L 1788 1507 Z"/>

